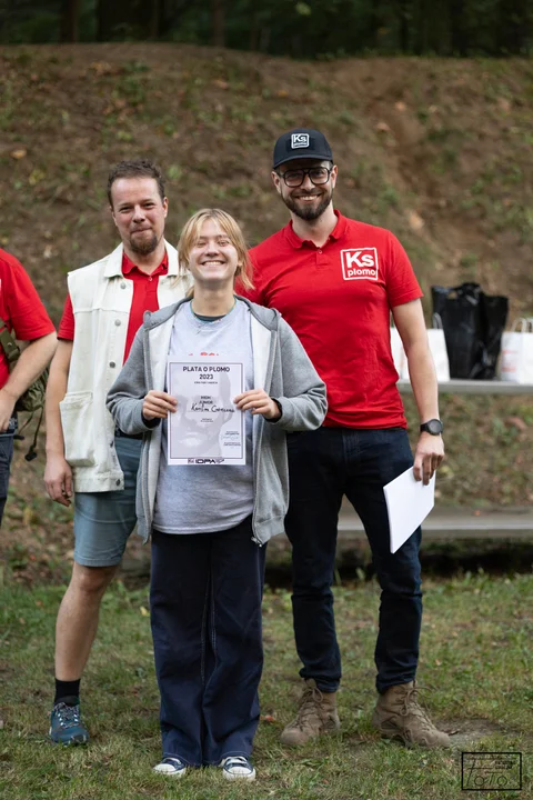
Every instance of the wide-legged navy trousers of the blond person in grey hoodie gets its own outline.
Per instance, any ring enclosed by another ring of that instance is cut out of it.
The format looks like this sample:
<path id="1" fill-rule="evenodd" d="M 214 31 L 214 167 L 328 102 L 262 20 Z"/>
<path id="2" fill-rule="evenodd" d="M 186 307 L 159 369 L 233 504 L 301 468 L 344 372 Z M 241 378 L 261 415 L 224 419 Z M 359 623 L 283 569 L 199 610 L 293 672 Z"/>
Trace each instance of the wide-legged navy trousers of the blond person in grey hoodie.
<path id="1" fill-rule="evenodd" d="M 150 609 L 163 757 L 250 756 L 263 669 L 265 547 L 251 518 L 218 533 L 152 533 Z"/>

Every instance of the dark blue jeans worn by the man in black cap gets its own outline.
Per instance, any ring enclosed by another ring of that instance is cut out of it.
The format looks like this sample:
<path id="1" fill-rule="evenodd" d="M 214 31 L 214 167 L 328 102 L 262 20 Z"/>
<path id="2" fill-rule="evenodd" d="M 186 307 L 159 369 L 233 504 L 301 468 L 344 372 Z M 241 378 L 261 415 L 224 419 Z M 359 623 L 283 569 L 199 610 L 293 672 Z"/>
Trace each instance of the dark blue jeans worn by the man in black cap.
<path id="1" fill-rule="evenodd" d="M 291 501 L 285 530 L 292 543 L 292 609 L 302 678 L 335 691 L 341 656 L 333 614 L 336 526 L 345 494 L 360 516 L 381 587 L 375 647 L 376 688 L 414 679 L 422 619 L 420 528 L 394 554 L 383 487 L 413 463 L 402 428 L 320 428 L 288 437 Z"/>

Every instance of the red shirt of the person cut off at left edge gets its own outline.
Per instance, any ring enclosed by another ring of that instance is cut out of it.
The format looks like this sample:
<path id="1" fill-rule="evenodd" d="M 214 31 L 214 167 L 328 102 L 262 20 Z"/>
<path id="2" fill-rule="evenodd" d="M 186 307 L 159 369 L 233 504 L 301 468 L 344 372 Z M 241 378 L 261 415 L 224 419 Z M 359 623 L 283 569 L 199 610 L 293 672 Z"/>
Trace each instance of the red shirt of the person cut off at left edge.
<path id="1" fill-rule="evenodd" d="M 56 330 L 28 272 L 6 250 L 0 250 L 0 317 L 20 341 L 33 341 Z M 0 347 L 0 388 L 8 378 L 9 363 Z"/>

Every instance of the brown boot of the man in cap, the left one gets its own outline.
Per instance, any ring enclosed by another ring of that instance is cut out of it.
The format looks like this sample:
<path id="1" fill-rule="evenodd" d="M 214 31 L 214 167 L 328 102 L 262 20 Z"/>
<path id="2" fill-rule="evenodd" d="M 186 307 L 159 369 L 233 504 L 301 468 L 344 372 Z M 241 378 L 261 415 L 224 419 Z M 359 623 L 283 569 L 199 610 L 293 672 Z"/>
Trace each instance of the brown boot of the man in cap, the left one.
<path id="1" fill-rule="evenodd" d="M 308 678 L 296 719 L 285 727 L 281 741 L 289 747 L 299 747 L 320 733 L 331 733 L 340 727 L 336 692 L 321 692 L 315 681 Z"/>

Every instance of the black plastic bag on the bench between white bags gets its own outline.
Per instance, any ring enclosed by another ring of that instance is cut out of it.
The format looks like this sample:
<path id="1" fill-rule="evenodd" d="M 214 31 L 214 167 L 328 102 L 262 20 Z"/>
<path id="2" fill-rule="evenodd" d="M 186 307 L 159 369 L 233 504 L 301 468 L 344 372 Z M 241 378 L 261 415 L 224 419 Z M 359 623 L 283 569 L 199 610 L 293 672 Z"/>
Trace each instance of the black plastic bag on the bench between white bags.
<path id="1" fill-rule="evenodd" d="M 506 297 L 485 294 L 479 283 L 431 287 L 450 360 L 450 378 L 492 380 L 509 312 Z"/>

